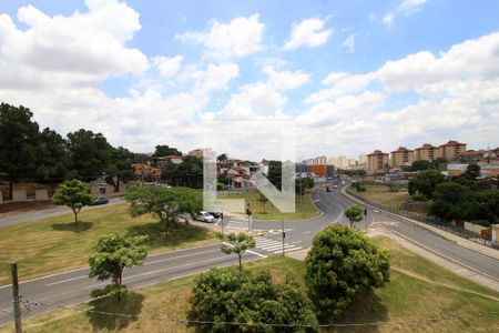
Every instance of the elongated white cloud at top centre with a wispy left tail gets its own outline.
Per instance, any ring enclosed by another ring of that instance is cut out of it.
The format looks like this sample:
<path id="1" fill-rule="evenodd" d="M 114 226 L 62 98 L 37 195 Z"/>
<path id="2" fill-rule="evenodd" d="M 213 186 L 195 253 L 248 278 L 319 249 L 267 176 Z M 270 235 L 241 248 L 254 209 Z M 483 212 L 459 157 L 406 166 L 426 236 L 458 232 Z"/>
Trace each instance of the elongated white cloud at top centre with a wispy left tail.
<path id="1" fill-rule="evenodd" d="M 262 49 L 265 24 L 259 16 L 237 17 L 230 23 L 213 20 L 206 31 L 187 31 L 175 36 L 183 42 L 193 41 L 204 46 L 208 57 L 243 57 Z"/>

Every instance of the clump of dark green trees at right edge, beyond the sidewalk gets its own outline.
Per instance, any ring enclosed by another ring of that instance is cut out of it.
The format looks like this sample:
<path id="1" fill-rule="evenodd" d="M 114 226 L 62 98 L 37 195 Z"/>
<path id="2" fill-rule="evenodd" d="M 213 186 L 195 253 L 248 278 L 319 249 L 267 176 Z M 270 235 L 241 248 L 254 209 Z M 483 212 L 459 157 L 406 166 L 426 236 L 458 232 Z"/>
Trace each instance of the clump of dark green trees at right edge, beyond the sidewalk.
<path id="1" fill-rule="evenodd" d="M 432 200 L 430 213 L 444 221 L 468 220 L 488 225 L 499 219 L 499 190 L 483 189 L 477 181 L 480 167 L 468 165 L 459 176 L 440 171 L 420 171 L 409 181 L 408 191 L 417 200 Z"/>

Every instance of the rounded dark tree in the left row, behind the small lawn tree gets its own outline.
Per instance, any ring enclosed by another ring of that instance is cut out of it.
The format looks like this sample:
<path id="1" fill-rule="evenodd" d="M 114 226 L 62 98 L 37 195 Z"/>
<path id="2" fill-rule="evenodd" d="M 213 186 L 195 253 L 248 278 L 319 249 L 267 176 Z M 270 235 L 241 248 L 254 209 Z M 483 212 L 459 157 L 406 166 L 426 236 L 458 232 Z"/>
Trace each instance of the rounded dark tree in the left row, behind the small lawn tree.
<path id="1" fill-rule="evenodd" d="M 101 133 L 79 130 L 68 134 L 70 175 L 93 180 L 110 169 L 113 148 Z"/>

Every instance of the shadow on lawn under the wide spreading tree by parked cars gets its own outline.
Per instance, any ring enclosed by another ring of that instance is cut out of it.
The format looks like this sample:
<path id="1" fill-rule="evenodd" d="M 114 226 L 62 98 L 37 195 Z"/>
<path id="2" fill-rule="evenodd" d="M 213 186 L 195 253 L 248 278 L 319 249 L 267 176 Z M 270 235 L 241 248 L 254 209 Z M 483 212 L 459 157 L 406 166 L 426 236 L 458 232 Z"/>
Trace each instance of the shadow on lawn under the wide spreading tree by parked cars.
<path id="1" fill-rule="evenodd" d="M 152 248 L 177 246 L 185 242 L 206 240 L 211 232 L 201 226 L 179 223 L 167 231 L 161 228 L 159 222 L 141 225 L 132 225 L 129 229 L 131 235 L 149 235 Z"/>

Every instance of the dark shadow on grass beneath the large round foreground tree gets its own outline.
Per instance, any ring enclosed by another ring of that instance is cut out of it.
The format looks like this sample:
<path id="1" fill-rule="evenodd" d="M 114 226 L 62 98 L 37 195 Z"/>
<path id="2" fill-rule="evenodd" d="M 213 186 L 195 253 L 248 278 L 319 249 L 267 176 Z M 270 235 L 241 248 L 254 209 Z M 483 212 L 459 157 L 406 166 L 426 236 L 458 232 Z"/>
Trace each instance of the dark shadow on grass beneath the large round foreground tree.
<path id="1" fill-rule="evenodd" d="M 334 324 L 366 324 L 388 321 L 388 310 L 383 304 L 381 299 L 370 293 L 357 297 L 350 305 L 338 316 L 323 320 L 322 323 Z M 325 332 L 379 332 L 380 325 L 359 325 L 359 326 L 339 326 L 326 329 Z"/>

